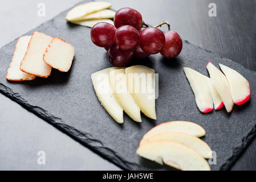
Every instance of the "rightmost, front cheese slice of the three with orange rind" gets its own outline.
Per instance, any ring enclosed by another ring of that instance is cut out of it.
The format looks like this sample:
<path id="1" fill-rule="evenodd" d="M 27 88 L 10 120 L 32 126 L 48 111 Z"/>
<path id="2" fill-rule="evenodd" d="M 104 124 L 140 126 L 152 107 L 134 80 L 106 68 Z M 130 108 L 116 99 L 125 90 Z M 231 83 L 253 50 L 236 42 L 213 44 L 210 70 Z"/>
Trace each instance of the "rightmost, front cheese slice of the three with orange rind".
<path id="1" fill-rule="evenodd" d="M 60 38 L 54 38 L 43 55 L 43 61 L 61 72 L 68 72 L 75 55 L 75 48 Z"/>

